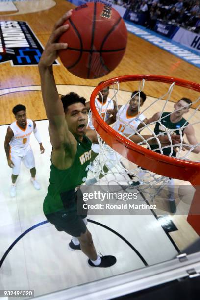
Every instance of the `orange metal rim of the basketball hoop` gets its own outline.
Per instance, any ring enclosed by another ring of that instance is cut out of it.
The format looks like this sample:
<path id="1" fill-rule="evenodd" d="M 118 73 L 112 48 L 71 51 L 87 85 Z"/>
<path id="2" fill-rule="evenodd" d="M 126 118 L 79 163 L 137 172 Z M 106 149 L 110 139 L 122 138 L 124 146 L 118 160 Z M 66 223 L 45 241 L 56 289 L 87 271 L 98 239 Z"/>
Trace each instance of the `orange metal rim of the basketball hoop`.
<path id="1" fill-rule="evenodd" d="M 190 181 L 192 185 L 200 184 L 200 163 L 164 156 L 149 149 L 145 149 L 116 132 L 112 127 L 107 125 L 99 115 L 95 107 L 95 97 L 100 90 L 107 86 L 111 86 L 112 84 L 116 84 L 117 82 L 138 81 L 142 79 L 163 83 L 175 83 L 175 85 L 200 92 L 200 84 L 167 76 L 125 75 L 112 78 L 98 85 L 90 98 L 92 120 L 95 130 L 102 140 L 111 148 L 135 164 L 162 176 L 172 177 L 173 175 L 173 178 Z"/>

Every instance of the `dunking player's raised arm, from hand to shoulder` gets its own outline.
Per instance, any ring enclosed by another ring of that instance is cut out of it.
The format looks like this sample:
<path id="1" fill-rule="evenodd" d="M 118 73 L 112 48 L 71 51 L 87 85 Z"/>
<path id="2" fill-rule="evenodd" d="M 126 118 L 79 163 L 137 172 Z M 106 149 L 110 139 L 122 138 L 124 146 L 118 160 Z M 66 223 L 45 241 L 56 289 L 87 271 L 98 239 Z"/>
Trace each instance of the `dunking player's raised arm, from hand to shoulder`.
<path id="1" fill-rule="evenodd" d="M 69 139 L 65 113 L 56 88 L 52 64 L 58 57 L 58 50 L 66 49 L 68 46 L 67 43 L 57 43 L 56 41 L 69 28 L 69 25 L 63 25 L 63 23 L 71 14 L 72 11 L 68 11 L 54 25 L 39 62 L 43 102 L 49 119 L 50 140 L 54 148 L 60 147 L 61 143 L 67 143 Z"/>

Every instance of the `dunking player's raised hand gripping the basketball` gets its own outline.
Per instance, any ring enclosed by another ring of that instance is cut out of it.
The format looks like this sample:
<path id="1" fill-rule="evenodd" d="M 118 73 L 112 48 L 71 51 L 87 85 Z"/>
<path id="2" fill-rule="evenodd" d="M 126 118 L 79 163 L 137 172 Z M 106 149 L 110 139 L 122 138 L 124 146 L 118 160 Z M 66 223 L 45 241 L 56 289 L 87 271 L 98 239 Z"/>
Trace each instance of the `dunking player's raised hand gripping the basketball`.
<path id="1" fill-rule="evenodd" d="M 39 65 L 44 67 L 50 67 L 55 59 L 58 57 L 58 50 L 66 49 L 68 47 L 67 43 L 57 43 L 60 35 L 69 29 L 69 25 L 63 25 L 63 23 L 70 18 L 72 15 L 72 9 L 64 14 L 54 25 L 53 31 L 50 38 L 45 46 L 43 54 L 40 58 Z"/>

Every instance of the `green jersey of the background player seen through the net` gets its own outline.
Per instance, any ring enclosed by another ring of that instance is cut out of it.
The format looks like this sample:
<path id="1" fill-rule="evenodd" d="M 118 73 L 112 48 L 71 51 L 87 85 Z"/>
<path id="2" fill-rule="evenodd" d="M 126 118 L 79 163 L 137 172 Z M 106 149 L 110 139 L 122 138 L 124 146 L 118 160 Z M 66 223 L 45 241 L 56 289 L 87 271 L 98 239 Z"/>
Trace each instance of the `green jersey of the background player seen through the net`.
<path id="1" fill-rule="evenodd" d="M 165 133 L 166 132 L 166 128 L 167 129 L 177 129 L 175 130 L 175 134 L 180 135 L 179 132 L 179 128 L 181 128 L 183 125 L 187 126 L 188 122 L 182 118 L 180 121 L 173 123 L 172 121 L 170 121 L 170 112 L 164 112 L 162 113 L 161 118 L 163 118 L 160 122 L 156 122 L 155 124 L 155 128 L 154 128 L 154 132 L 156 135 L 158 135 L 159 133 Z M 182 135 L 184 133 L 184 129 L 182 131 Z M 158 145 L 150 145 L 151 149 L 156 149 L 158 148 Z M 156 150 L 156 152 L 161 153 L 160 150 Z M 163 154 L 169 156 L 171 153 L 171 147 L 169 146 L 169 148 L 164 148 L 163 149 Z M 171 156 L 176 156 L 175 151 L 173 151 Z"/>

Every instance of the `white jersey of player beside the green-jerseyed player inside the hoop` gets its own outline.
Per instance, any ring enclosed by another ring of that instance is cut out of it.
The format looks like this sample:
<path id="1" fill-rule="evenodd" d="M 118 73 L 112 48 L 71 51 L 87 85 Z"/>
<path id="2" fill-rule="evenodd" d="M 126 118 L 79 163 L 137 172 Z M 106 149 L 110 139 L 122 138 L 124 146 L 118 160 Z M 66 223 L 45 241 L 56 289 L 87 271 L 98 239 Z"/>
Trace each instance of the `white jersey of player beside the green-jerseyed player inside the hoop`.
<path id="1" fill-rule="evenodd" d="M 137 129 L 138 125 L 146 119 L 145 115 L 138 113 L 135 116 L 128 116 L 128 107 L 129 104 L 122 105 L 119 112 L 116 115 L 116 123 L 113 126 L 113 129 L 119 133 L 132 134 L 134 133 L 133 129 Z"/>

